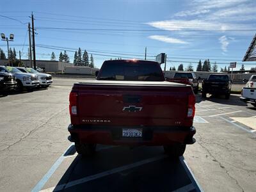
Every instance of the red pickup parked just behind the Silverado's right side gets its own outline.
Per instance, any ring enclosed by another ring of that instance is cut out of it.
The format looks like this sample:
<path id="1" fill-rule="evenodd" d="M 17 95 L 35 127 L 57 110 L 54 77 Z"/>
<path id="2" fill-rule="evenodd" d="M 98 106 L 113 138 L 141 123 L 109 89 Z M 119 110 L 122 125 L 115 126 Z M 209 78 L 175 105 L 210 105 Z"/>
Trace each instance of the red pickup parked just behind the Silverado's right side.
<path id="1" fill-rule="evenodd" d="M 167 78 L 166 81 L 189 84 L 192 86 L 194 93 L 198 93 L 198 79 L 193 72 L 175 72 L 173 78 Z"/>

